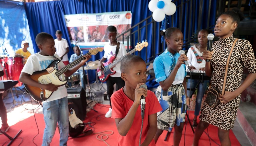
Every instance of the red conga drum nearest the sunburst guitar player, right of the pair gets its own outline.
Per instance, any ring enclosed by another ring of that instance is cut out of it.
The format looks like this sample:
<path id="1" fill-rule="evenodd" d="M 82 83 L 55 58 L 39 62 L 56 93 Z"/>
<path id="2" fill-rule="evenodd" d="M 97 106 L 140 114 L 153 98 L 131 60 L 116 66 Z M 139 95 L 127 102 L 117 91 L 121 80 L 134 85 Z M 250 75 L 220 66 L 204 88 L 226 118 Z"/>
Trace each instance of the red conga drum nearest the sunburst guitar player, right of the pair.
<path id="1" fill-rule="evenodd" d="M 24 57 L 20 55 L 11 55 L 8 57 L 8 69 L 10 80 L 18 80 L 19 75 L 24 67 Z M 15 87 L 22 86 L 22 82 L 18 82 Z"/>

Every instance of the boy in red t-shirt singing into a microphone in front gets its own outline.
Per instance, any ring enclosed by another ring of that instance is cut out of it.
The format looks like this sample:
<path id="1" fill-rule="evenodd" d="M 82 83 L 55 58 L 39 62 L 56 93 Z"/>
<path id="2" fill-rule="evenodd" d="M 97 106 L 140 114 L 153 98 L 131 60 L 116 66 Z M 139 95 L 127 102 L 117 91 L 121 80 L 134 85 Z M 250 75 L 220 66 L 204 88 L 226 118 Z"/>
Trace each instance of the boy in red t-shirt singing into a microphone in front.
<path id="1" fill-rule="evenodd" d="M 121 61 L 121 78 L 125 86 L 111 96 L 112 118 L 119 132 L 118 145 L 139 145 L 141 130 L 140 99 L 146 100 L 141 145 L 155 145 L 156 113 L 162 108 L 152 91 L 140 88 L 146 82 L 146 63 L 136 55 L 127 55 Z"/>

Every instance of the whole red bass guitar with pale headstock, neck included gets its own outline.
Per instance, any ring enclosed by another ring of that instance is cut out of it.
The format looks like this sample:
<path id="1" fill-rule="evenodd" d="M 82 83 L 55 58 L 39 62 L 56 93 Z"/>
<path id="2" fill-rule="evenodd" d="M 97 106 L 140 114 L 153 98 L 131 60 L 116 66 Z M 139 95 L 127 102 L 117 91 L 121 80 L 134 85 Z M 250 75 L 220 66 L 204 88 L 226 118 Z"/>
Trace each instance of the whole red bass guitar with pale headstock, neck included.
<path id="1" fill-rule="evenodd" d="M 148 43 L 145 41 L 142 41 L 142 43 L 137 43 L 137 45 L 135 46 L 134 49 L 132 49 L 130 52 L 128 52 L 126 55 L 132 54 L 135 51 L 141 51 L 142 48 L 147 47 Z M 116 71 L 113 70 L 113 67 L 118 64 L 119 62 L 121 62 L 121 60 L 126 56 L 122 56 L 120 59 L 115 60 L 115 55 L 111 56 L 110 59 L 103 63 L 104 68 L 102 70 L 100 70 L 99 68 L 97 69 L 97 73 L 99 76 L 99 79 L 101 82 L 105 82 L 106 80 L 108 80 L 109 76 L 112 74 L 115 74 Z"/>

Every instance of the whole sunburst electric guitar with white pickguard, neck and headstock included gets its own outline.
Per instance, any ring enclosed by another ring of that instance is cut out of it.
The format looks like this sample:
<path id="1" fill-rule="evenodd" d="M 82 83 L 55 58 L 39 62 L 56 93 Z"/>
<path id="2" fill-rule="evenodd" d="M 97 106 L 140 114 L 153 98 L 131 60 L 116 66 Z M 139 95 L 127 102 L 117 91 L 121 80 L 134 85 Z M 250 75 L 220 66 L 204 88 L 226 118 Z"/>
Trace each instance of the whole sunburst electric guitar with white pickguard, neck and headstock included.
<path id="1" fill-rule="evenodd" d="M 103 51 L 103 48 L 92 48 L 89 50 L 87 54 L 95 55 L 98 52 Z M 59 76 L 72 67 L 76 66 L 78 63 L 80 63 L 82 60 L 86 59 L 85 57 L 81 56 L 77 60 L 69 63 L 65 67 L 61 68 L 60 70 L 57 69 L 57 64 L 60 62 L 60 60 L 54 60 L 45 70 L 42 71 L 36 71 L 30 77 L 41 84 L 49 84 L 52 83 L 54 85 L 64 85 L 67 83 L 67 80 L 61 81 L 59 79 Z M 51 95 L 52 92 L 46 89 L 41 89 L 38 87 L 34 87 L 28 84 L 24 84 L 26 90 L 30 93 L 30 95 L 37 101 L 42 102 L 47 100 Z"/>

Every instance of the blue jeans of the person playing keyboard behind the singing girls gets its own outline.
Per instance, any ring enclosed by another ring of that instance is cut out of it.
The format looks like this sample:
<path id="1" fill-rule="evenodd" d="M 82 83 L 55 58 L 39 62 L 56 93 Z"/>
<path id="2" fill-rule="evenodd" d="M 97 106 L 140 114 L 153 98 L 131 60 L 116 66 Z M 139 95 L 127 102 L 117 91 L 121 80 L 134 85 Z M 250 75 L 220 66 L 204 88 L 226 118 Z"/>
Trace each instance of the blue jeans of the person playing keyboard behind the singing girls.
<path id="1" fill-rule="evenodd" d="M 200 80 L 190 80 L 188 79 L 187 82 L 187 88 L 194 89 L 197 85 L 197 83 L 200 82 Z M 191 83 L 191 86 L 190 86 Z M 202 103 L 202 98 L 204 97 L 204 93 L 207 90 L 207 84 L 209 83 L 209 81 L 204 81 L 203 83 L 200 82 L 197 88 L 197 95 L 196 95 L 196 107 L 195 107 L 195 115 L 198 116 L 199 115 L 199 111 L 201 108 L 201 103 Z M 191 94 L 193 93 L 193 91 L 191 92 L 190 90 L 187 90 L 187 96 L 191 97 Z"/>

